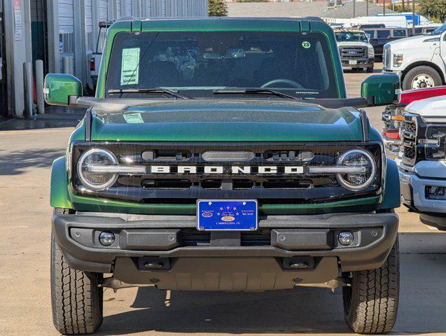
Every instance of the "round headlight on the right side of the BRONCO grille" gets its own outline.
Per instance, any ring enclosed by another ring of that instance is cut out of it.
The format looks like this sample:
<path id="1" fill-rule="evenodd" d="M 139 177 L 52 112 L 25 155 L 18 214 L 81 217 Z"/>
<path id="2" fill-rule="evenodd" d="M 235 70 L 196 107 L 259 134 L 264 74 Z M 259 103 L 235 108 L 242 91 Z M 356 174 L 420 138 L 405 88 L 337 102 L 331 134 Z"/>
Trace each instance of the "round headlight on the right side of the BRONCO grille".
<path id="1" fill-rule="evenodd" d="M 363 149 L 352 149 L 337 158 L 337 166 L 344 167 L 344 172 L 336 174 L 341 186 L 349 190 L 363 190 L 375 180 L 375 158 Z"/>

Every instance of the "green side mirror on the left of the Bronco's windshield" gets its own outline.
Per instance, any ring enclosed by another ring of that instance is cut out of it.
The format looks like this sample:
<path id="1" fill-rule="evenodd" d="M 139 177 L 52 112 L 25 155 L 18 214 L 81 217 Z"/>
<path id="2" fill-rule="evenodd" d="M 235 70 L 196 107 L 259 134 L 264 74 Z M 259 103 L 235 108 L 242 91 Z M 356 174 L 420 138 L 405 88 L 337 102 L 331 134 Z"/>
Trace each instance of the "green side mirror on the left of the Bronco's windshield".
<path id="1" fill-rule="evenodd" d="M 45 77 L 43 93 L 49 105 L 76 106 L 82 97 L 81 80 L 68 73 L 48 73 Z"/>

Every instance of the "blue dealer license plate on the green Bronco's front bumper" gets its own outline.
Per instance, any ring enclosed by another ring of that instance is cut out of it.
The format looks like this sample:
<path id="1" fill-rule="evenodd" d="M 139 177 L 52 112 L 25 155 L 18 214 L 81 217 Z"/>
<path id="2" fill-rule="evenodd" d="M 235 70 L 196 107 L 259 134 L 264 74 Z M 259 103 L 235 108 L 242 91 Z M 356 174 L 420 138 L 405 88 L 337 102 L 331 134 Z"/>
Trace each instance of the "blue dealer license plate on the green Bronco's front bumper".
<path id="1" fill-rule="evenodd" d="M 257 230 L 256 200 L 199 200 L 198 230 Z"/>

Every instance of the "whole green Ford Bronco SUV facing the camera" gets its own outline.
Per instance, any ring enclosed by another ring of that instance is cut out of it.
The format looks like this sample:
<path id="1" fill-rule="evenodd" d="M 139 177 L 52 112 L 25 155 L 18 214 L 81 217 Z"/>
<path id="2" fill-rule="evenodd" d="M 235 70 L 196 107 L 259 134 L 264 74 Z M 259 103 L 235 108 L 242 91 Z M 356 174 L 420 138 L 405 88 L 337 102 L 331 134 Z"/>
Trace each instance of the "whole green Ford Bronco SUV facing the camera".
<path id="1" fill-rule="evenodd" d="M 316 18 L 114 23 L 95 97 L 48 74 L 46 102 L 88 107 L 51 177 L 53 319 L 102 323 L 103 288 L 342 288 L 355 332 L 398 307 L 398 169 L 347 98 L 333 30 Z M 321 303 L 322 304 L 322 303 Z"/>

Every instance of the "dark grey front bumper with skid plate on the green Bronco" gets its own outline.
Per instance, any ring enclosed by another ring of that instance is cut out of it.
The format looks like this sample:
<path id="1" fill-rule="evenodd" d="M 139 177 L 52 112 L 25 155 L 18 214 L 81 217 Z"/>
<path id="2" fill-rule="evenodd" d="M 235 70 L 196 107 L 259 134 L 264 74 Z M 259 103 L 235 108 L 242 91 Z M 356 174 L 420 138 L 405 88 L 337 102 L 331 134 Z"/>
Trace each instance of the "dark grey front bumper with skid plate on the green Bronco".
<path id="1" fill-rule="evenodd" d="M 196 290 L 293 288 L 296 282 L 323 283 L 340 272 L 380 267 L 396 240 L 398 216 L 268 216 L 258 226 L 263 240 L 249 233 L 199 232 L 195 216 L 53 216 L 55 239 L 74 269 L 112 272 L 126 283 Z M 354 233 L 354 244 L 337 241 L 342 230 Z M 115 234 L 112 246 L 99 243 L 102 231 Z"/>

